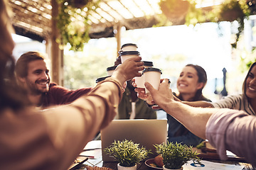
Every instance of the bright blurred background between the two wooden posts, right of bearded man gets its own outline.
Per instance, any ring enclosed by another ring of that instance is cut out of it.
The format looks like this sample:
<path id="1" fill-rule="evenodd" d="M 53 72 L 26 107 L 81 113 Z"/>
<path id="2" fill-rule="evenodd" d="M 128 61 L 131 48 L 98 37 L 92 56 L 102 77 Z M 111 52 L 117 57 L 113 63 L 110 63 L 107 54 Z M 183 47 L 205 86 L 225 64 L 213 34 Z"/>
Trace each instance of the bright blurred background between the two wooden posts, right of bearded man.
<path id="1" fill-rule="evenodd" d="M 106 43 L 113 44 L 107 46 Z M 64 84 L 69 89 L 95 86 L 96 79 L 107 76 L 107 67 L 114 65 L 117 57 L 115 38 L 90 40 L 83 52 L 73 52 L 67 46 L 64 57 Z M 100 45 L 97 46 L 97 45 Z"/>

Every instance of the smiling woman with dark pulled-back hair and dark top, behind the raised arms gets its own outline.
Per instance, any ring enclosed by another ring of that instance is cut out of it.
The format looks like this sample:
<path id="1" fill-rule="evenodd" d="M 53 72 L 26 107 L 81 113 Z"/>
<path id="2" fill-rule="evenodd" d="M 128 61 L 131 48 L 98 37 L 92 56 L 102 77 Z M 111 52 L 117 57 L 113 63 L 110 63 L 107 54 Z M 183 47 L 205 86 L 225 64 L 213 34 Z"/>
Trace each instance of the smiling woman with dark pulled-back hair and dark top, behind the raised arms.
<path id="1" fill-rule="evenodd" d="M 186 67 L 183 67 L 178 77 L 177 89 L 179 94 L 176 97 L 181 101 L 210 101 L 202 94 L 206 82 L 207 75 L 203 67 L 187 64 Z M 200 137 L 188 131 L 171 115 L 167 114 L 167 120 L 169 125 L 169 142 L 182 142 L 182 144 L 196 147 L 196 145 L 199 145 L 203 141 Z"/>

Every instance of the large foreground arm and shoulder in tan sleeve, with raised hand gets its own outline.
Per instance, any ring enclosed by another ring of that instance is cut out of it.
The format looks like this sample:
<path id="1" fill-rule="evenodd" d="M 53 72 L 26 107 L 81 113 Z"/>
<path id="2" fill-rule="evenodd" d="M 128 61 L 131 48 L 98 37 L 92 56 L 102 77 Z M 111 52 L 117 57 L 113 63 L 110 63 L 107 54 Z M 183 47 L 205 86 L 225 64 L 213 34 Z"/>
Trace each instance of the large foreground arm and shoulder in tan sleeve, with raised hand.
<path id="1" fill-rule="evenodd" d="M 6 162 L 0 169 L 68 169 L 87 142 L 113 120 L 122 98 L 122 84 L 141 76 L 139 71 L 144 67 L 140 60 L 141 57 L 126 60 L 114 71 L 113 77 L 101 81 L 69 105 L 38 113 L 31 108 L 1 111 L 0 122 L 4 127 L 1 139 L 4 140 L 1 140 L 0 157 Z M 24 154 L 23 151 L 28 150 L 29 154 Z M 17 159 L 9 159 L 14 156 Z"/>

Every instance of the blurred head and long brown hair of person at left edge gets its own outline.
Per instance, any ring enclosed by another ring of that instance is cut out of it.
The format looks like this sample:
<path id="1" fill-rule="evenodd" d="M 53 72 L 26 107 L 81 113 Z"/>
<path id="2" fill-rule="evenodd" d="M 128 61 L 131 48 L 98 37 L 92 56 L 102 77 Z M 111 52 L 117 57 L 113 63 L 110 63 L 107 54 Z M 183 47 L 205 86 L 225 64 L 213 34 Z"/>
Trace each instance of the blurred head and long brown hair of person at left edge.
<path id="1" fill-rule="evenodd" d="M 9 33 L 9 35 L 3 35 L 3 43 L 7 43 L 5 46 L 0 47 L 0 111 L 5 108 L 11 108 L 14 110 L 23 108 L 27 105 L 28 100 L 24 92 L 18 87 L 16 78 L 14 76 L 15 60 L 10 54 L 13 44 L 10 40 L 9 30 L 9 15 L 6 11 L 6 4 L 4 0 L 0 0 L 0 33 Z M 8 26 L 7 26 L 8 25 Z M 9 48 L 6 50 L 4 47 Z"/>

